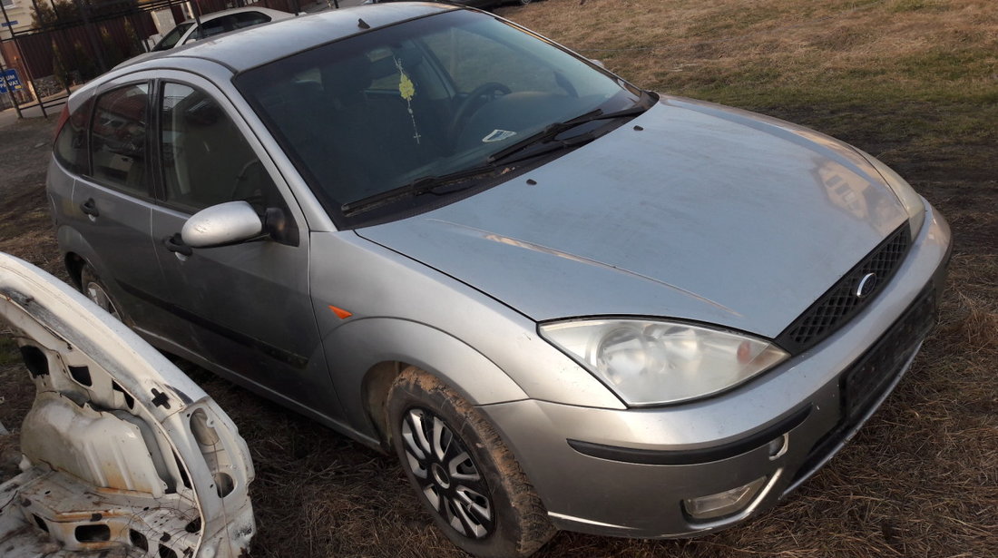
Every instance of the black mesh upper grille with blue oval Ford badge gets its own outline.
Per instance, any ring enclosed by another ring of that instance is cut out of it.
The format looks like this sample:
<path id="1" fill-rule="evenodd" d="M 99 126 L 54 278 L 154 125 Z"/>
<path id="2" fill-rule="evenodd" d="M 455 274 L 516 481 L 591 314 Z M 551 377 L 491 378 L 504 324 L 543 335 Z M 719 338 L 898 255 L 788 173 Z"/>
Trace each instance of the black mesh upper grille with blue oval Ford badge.
<path id="1" fill-rule="evenodd" d="M 894 276 L 910 246 L 911 230 L 905 223 L 790 323 L 776 337 L 776 344 L 797 354 L 847 323 Z M 856 290 L 869 274 L 874 277 L 867 280 L 860 297 Z"/>

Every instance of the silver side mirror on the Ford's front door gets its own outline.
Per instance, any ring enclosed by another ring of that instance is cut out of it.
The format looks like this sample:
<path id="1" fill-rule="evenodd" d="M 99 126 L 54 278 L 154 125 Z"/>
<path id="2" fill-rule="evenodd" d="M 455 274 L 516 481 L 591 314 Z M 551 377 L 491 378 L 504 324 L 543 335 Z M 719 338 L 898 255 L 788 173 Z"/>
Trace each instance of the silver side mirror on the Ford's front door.
<path id="1" fill-rule="evenodd" d="M 226 202 L 191 216 L 181 239 L 191 248 L 213 248 L 244 243 L 259 237 L 263 223 L 246 202 Z"/>

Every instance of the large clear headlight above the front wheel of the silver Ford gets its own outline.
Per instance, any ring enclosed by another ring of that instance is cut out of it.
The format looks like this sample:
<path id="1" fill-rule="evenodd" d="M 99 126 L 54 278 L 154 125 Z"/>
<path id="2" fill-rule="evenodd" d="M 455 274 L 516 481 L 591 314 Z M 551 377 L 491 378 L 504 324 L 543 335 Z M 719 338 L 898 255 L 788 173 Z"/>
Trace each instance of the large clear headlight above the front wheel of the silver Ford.
<path id="1" fill-rule="evenodd" d="M 689 323 L 587 319 L 545 323 L 540 332 L 632 406 L 705 397 L 787 357 L 762 339 Z"/>

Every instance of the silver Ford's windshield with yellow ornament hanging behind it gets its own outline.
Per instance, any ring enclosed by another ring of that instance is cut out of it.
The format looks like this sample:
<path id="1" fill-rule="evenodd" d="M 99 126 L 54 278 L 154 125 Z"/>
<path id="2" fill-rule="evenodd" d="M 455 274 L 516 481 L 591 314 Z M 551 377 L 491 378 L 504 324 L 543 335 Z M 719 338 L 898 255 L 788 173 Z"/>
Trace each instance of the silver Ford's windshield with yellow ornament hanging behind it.
<path id="1" fill-rule="evenodd" d="M 359 218 L 344 204 L 478 168 L 554 123 L 642 98 L 589 61 L 468 11 L 323 45 L 236 85 L 340 227 L 440 199 L 413 196 Z"/>

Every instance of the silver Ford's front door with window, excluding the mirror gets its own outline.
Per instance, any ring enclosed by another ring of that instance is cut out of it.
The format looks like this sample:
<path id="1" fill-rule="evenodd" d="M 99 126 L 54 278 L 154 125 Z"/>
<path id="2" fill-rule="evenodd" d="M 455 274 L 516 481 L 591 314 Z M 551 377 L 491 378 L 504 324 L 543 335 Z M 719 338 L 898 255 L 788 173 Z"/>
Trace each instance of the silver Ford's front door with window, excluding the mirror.
<path id="1" fill-rule="evenodd" d="M 163 186 L 152 232 L 170 303 L 193 329 L 184 348 L 291 406 L 338 416 L 309 297 L 307 227 L 287 185 L 213 84 L 177 73 L 159 92 Z M 192 215 L 236 200 L 282 220 L 284 234 L 212 249 L 179 242 Z"/>

